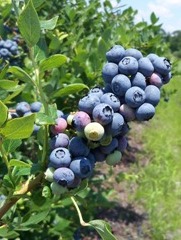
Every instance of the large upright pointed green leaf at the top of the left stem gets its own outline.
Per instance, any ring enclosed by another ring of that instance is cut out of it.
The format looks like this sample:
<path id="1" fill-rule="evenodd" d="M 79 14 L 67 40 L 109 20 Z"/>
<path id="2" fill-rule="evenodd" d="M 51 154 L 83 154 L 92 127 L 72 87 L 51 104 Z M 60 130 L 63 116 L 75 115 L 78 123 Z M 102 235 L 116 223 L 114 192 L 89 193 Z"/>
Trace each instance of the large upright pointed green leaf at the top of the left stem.
<path id="1" fill-rule="evenodd" d="M 30 47 L 33 47 L 40 38 L 40 22 L 38 14 L 29 0 L 18 19 L 18 27 L 21 35 Z"/>

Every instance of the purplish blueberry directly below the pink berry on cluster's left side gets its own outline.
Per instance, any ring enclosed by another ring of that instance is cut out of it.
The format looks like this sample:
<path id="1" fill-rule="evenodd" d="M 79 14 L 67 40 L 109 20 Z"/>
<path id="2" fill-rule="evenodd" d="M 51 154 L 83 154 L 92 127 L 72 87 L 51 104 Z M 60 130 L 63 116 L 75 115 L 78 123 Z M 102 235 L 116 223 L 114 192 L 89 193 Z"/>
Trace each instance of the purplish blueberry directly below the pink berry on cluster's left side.
<path id="1" fill-rule="evenodd" d="M 50 140 L 50 148 L 55 149 L 58 147 L 68 147 L 69 145 L 69 136 L 65 133 L 59 133 L 55 135 L 51 140 Z"/>

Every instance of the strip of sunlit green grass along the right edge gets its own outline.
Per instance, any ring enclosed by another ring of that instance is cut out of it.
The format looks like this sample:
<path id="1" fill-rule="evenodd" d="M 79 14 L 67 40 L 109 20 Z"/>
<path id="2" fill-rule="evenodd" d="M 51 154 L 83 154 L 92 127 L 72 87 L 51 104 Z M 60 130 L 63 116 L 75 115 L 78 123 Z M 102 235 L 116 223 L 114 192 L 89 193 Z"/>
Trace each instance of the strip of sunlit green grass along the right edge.
<path id="1" fill-rule="evenodd" d="M 169 101 L 162 98 L 155 117 L 143 132 L 144 155 L 149 163 L 139 167 L 136 197 L 143 202 L 154 240 L 181 239 L 181 77 L 165 85 Z"/>

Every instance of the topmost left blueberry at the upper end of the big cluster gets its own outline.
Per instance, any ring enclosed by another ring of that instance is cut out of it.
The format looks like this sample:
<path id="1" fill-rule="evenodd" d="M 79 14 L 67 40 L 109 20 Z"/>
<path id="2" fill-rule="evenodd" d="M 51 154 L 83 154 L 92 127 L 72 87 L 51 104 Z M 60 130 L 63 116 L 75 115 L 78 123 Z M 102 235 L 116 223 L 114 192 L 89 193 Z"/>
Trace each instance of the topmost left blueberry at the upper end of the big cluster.
<path id="1" fill-rule="evenodd" d="M 106 52 L 106 58 L 108 62 L 119 63 L 124 57 L 124 54 L 125 49 L 121 45 L 115 45 Z"/>

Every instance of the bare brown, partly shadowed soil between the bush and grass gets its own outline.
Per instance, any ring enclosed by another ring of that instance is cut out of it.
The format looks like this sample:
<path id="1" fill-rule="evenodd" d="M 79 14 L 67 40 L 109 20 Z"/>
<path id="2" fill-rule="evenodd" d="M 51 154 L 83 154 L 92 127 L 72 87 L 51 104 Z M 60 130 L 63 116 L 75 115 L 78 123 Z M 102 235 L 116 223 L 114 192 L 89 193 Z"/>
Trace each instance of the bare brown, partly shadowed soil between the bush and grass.
<path id="1" fill-rule="evenodd" d="M 146 123 L 147 124 L 147 123 Z M 131 124 L 131 131 L 128 135 L 128 147 L 123 154 L 122 161 L 114 167 L 114 171 L 110 174 L 111 178 L 105 181 L 105 188 L 114 189 L 110 196 L 109 206 L 111 208 L 98 208 L 96 219 L 102 219 L 108 222 L 112 228 L 112 233 L 117 240 L 151 240 L 148 215 L 141 205 L 131 196 L 134 195 L 137 188 L 136 181 L 115 181 L 116 177 L 122 173 L 132 173 L 132 167 L 139 161 L 139 166 L 143 166 L 149 162 L 148 156 L 144 154 L 144 146 L 141 139 L 144 124 Z M 144 156 L 144 157 L 143 157 Z M 146 156 L 146 158 L 145 158 Z M 97 175 L 106 174 L 109 168 L 103 167 L 102 164 L 96 166 Z M 133 168 L 135 169 L 135 167 Z M 99 171 L 100 170 L 100 171 Z M 82 234 L 81 229 L 81 234 Z M 101 240 L 95 231 L 83 230 L 84 237 L 81 240 Z"/>

